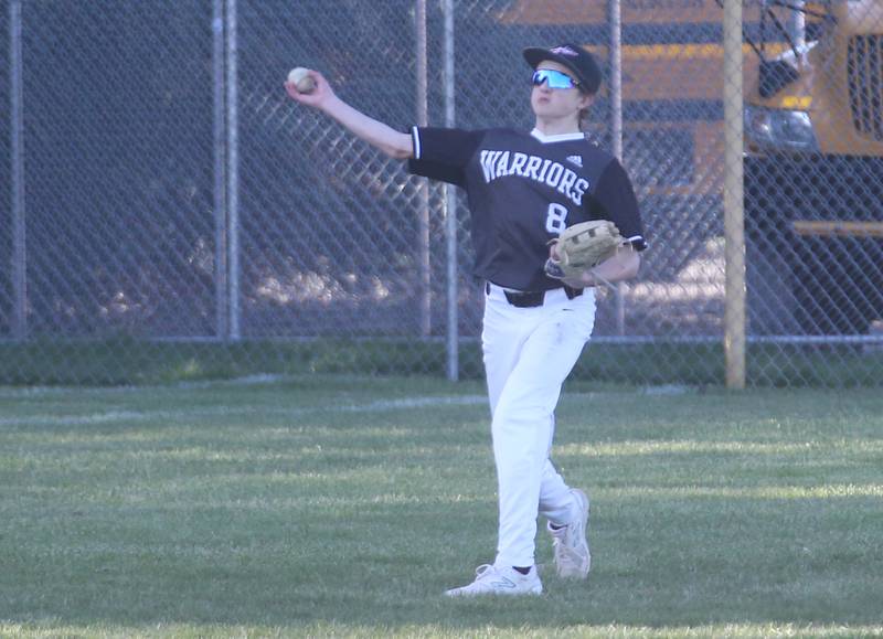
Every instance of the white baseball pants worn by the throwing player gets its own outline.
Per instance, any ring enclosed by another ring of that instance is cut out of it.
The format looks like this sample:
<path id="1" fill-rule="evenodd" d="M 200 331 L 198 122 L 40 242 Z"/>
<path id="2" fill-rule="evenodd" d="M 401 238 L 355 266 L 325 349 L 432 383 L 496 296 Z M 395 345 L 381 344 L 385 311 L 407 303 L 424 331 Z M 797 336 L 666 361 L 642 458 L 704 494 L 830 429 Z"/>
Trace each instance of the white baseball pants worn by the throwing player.
<path id="1" fill-rule="evenodd" d="M 499 494 L 496 565 L 532 566 L 536 519 L 570 523 L 576 504 L 549 457 L 555 405 L 595 324 L 595 291 L 547 291 L 519 308 L 489 285 L 481 334 Z"/>

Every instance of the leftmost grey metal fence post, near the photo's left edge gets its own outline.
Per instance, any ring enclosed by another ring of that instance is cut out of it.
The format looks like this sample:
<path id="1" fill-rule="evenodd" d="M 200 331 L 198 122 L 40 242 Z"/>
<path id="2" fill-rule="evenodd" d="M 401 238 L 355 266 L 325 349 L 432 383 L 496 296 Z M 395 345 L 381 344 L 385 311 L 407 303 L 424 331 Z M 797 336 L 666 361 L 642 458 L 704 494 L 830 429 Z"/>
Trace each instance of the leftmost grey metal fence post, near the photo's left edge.
<path id="1" fill-rule="evenodd" d="M 28 244 L 24 223 L 24 87 L 22 77 L 21 0 L 9 4 L 10 131 L 12 147 L 12 334 L 28 337 Z"/>

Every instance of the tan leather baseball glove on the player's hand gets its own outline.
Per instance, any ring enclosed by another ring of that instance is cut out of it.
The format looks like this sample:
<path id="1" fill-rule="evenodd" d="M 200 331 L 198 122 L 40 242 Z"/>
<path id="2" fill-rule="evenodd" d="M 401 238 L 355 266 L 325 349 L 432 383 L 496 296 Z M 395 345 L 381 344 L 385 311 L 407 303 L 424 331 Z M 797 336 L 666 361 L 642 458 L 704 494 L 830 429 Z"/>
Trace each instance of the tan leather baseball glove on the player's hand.
<path id="1" fill-rule="evenodd" d="M 557 259 L 546 260 L 545 274 L 555 279 L 578 279 L 584 271 L 613 257 L 624 243 L 616 224 L 609 220 L 574 224 L 550 242 L 555 246 Z"/>

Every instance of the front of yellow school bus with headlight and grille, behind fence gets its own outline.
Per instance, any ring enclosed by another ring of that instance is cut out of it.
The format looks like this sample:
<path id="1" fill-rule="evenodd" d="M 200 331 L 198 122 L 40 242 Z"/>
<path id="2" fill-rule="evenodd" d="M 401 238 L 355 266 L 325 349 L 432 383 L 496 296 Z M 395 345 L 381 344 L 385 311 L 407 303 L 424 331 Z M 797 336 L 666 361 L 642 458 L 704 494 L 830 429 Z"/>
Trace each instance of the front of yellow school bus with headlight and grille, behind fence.
<path id="1" fill-rule="evenodd" d="M 767 10 L 786 49 L 760 40 L 746 67 L 746 228 L 773 264 L 756 284 L 784 273 L 806 332 L 865 333 L 883 319 L 883 0 Z"/>

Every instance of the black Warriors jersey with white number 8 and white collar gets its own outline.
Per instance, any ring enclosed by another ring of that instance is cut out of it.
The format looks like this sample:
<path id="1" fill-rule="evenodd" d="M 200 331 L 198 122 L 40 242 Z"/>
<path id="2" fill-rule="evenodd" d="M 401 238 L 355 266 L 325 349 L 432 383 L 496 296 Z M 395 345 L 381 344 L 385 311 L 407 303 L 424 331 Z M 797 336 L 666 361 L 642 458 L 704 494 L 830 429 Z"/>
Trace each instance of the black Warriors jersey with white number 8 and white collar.
<path id="1" fill-rule="evenodd" d="M 613 221 L 645 248 L 638 202 L 621 164 L 582 134 L 417 128 L 408 170 L 466 190 L 474 273 L 499 286 L 549 290 L 549 241 L 588 220 Z"/>

